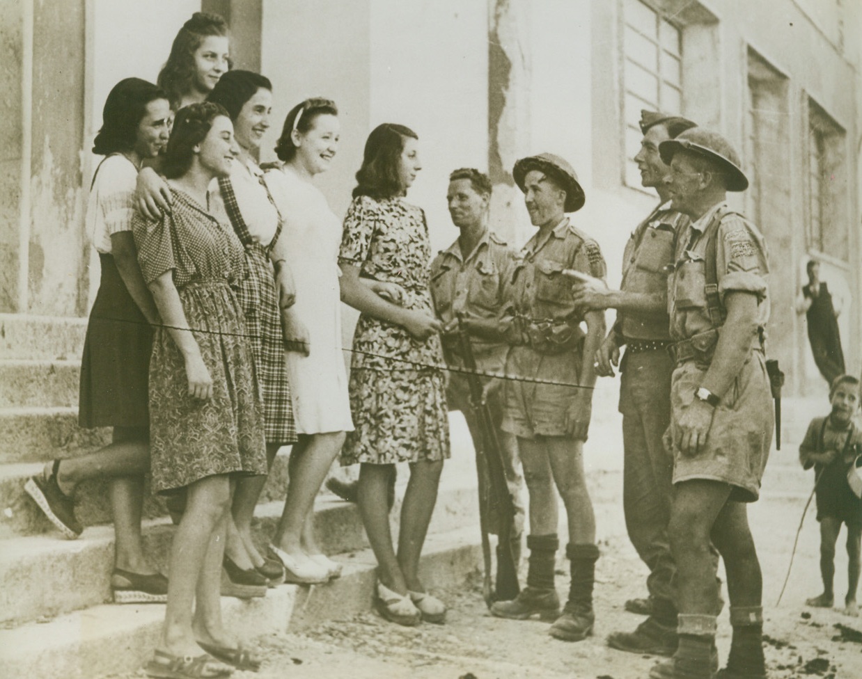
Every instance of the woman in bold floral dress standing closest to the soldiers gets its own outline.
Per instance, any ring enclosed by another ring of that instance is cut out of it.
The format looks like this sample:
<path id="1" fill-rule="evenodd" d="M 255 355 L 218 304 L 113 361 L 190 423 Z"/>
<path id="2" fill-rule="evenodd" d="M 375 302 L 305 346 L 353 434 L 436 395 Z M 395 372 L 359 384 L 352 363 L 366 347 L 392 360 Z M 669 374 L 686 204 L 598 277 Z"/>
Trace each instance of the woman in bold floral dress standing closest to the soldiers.
<path id="1" fill-rule="evenodd" d="M 341 464 L 361 464 L 359 511 L 378 560 L 378 611 L 402 625 L 442 622 L 446 615 L 417 573 L 449 457 L 440 322 L 428 291 L 428 225 L 422 209 L 404 200 L 422 169 L 417 143 L 415 132 L 390 123 L 369 135 L 339 256 L 341 297 L 361 312 L 349 381 L 355 430 L 347 433 Z M 400 285 L 403 306 L 362 278 Z M 396 553 L 386 498 L 398 462 L 409 463 L 410 481 Z"/>

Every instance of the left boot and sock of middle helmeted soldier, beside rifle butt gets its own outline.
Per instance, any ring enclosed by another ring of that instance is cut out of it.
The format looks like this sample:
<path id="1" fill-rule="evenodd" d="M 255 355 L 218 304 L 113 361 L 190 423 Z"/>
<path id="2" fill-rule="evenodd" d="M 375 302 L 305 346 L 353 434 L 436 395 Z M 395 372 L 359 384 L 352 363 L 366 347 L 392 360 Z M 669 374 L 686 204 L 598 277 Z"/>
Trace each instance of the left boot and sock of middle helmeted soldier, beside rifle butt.
<path id="1" fill-rule="evenodd" d="M 511 601 L 495 601 L 490 613 L 497 618 L 527 620 L 538 615 L 541 620 L 559 616 L 559 596 L 553 588 L 553 567 L 559 539 L 557 535 L 528 535 L 527 587 Z"/>

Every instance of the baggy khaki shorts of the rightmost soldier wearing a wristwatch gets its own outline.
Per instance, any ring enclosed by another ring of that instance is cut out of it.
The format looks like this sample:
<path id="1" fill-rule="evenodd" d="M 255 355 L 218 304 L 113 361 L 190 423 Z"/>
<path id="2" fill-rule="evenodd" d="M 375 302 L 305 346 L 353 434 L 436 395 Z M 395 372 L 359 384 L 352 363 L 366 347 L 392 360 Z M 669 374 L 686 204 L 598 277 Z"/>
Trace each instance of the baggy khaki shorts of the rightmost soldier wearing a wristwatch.
<path id="1" fill-rule="evenodd" d="M 695 456 L 684 455 L 673 445 L 676 422 L 682 408 L 694 400 L 705 373 L 694 361 L 673 371 L 671 427 L 665 434 L 665 445 L 673 452 L 673 483 L 720 481 L 734 487 L 731 500 L 756 501 L 775 425 L 765 358 L 753 352 L 715 408 L 705 448 Z"/>

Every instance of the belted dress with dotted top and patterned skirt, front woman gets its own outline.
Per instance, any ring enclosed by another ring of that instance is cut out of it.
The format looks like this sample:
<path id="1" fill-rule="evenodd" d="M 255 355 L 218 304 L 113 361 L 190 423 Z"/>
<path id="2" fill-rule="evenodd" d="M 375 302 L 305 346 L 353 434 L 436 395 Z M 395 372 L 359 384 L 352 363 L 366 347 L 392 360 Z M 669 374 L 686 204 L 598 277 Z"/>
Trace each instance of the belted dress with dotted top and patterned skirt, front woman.
<path id="1" fill-rule="evenodd" d="M 153 490 L 184 488 L 216 474 L 265 474 L 264 423 L 246 324 L 235 288 L 247 275 L 233 230 L 191 196 L 171 189 L 172 212 L 132 221 L 147 283 L 172 271 L 212 396 L 189 396 L 185 363 L 171 331 L 157 327 L 150 359 Z"/>

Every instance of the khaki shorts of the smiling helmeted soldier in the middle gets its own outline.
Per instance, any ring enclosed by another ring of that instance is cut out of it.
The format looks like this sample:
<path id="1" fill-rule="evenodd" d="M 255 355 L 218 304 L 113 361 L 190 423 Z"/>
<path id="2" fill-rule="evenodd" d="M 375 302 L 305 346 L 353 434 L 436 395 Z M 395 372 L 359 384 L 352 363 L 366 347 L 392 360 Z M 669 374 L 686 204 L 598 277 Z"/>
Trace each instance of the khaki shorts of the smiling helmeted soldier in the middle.
<path id="1" fill-rule="evenodd" d="M 506 374 L 511 376 L 578 383 L 580 371 L 577 350 L 548 356 L 528 346 L 513 346 L 506 359 Z M 566 416 L 578 396 L 577 387 L 507 380 L 505 389 L 503 431 L 522 439 L 566 435 Z"/>

